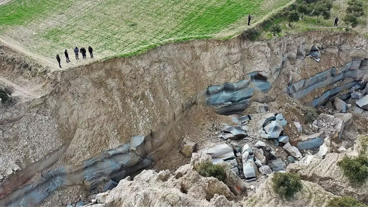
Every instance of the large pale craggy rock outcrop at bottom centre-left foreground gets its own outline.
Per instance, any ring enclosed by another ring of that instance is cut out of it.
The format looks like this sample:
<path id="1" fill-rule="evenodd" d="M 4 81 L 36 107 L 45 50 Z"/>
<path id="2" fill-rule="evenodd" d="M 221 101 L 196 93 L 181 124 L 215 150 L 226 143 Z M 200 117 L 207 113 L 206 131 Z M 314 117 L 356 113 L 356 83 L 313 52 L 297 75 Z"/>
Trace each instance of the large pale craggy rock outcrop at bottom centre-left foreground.
<path id="1" fill-rule="evenodd" d="M 134 180 L 128 176 L 121 180 L 117 187 L 105 193 L 97 194 L 93 203 L 84 207 L 107 206 L 201 206 L 222 207 L 240 205 L 231 201 L 234 194 L 245 194 L 246 187 L 230 168 L 225 168 L 226 180 L 224 184 L 216 178 L 205 178 L 199 175 L 193 167 L 211 158 L 204 154 L 193 153 L 190 164 L 181 166 L 172 175 L 170 171 L 144 170 L 135 176 Z M 219 162 L 227 166 L 226 163 Z"/>

